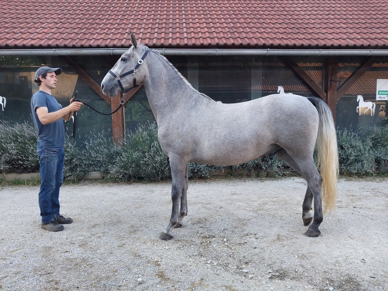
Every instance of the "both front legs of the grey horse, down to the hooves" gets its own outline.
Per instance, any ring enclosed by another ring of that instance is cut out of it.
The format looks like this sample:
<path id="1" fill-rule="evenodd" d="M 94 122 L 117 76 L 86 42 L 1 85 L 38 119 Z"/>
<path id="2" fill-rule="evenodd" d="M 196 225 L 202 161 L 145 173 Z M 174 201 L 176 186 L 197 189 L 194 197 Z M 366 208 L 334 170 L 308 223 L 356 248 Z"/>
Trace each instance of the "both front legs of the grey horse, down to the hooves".
<path id="1" fill-rule="evenodd" d="M 171 210 L 171 218 L 170 223 L 167 228 L 159 235 L 160 239 L 170 240 L 173 238 L 171 235 L 171 230 L 175 227 L 179 227 L 179 222 L 186 215 L 187 205 L 186 205 L 186 197 L 183 198 L 183 209 L 180 214 L 179 207 L 182 205 L 182 195 L 184 186 L 187 185 L 187 181 L 185 180 L 185 173 L 187 163 L 182 163 L 179 160 L 173 159 L 170 157 L 170 167 L 171 167 L 171 175 L 172 175 L 172 189 L 171 189 L 171 200 L 172 200 L 172 210 Z M 187 186 L 186 186 L 187 190 Z M 186 196 L 186 194 L 184 195 Z"/>

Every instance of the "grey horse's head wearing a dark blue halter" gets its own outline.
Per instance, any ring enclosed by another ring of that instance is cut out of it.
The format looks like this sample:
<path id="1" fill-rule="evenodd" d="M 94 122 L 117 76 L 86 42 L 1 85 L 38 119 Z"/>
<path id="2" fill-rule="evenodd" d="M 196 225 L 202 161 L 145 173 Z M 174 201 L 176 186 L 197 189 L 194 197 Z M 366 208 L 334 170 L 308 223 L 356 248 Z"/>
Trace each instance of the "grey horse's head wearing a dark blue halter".
<path id="1" fill-rule="evenodd" d="M 144 68 L 141 64 L 149 49 L 137 44 L 132 32 L 131 42 L 132 47 L 120 57 L 101 82 L 102 93 L 109 97 L 117 96 L 119 90 L 127 93 L 144 79 Z"/>

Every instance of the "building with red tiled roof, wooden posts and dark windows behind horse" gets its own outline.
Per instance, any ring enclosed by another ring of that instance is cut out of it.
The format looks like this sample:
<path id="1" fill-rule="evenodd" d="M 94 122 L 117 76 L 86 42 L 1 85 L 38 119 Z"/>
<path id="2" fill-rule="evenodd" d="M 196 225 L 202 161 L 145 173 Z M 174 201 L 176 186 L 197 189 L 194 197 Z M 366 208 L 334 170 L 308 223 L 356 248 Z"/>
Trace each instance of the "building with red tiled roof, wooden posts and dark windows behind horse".
<path id="1" fill-rule="evenodd" d="M 282 86 L 286 93 L 324 99 L 338 128 L 387 124 L 388 20 L 377 0 L 115 3 L 120 5 L 59 0 L 55 11 L 42 4 L 47 7 L 40 9 L 52 13 L 39 21 L 31 0 L 5 4 L 1 120 L 31 121 L 29 100 L 38 89 L 33 76 L 42 65 L 62 67 L 53 93 L 63 105 L 77 92 L 100 111 L 117 107 L 121 97 L 103 96 L 99 84 L 130 47 L 131 27 L 140 43 L 160 51 L 193 87 L 215 100 L 243 102 Z M 15 17 L 20 11 L 25 17 Z M 139 87 L 113 116 L 84 106 L 77 134 L 103 131 L 119 142 L 126 130 L 148 120 L 153 116 Z"/>

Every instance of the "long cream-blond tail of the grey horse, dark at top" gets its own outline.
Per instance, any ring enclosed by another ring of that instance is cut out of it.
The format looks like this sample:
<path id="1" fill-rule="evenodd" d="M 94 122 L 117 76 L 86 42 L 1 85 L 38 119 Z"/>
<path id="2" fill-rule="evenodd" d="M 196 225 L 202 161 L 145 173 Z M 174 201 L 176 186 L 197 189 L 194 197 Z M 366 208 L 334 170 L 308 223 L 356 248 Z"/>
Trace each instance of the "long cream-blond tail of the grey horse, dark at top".
<path id="1" fill-rule="evenodd" d="M 317 137 L 318 167 L 322 176 L 322 197 L 324 211 L 335 209 L 337 197 L 337 177 L 339 172 L 337 134 L 333 115 L 329 106 L 321 98 L 308 98 L 319 113 Z"/>

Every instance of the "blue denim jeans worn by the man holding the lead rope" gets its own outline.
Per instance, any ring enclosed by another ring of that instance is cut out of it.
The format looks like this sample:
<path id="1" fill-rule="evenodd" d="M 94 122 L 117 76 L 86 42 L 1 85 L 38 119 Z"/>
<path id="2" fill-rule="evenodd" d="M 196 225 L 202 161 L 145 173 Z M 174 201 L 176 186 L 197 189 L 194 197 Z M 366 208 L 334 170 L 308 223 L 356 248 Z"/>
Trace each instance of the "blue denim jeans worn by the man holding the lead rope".
<path id="1" fill-rule="evenodd" d="M 39 191 L 39 207 L 42 223 L 52 222 L 59 216 L 59 188 L 63 181 L 65 165 L 64 149 L 45 150 L 40 146 L 36 149 L 41 173 L 41 189 Z"/>

